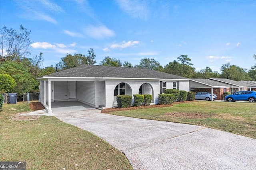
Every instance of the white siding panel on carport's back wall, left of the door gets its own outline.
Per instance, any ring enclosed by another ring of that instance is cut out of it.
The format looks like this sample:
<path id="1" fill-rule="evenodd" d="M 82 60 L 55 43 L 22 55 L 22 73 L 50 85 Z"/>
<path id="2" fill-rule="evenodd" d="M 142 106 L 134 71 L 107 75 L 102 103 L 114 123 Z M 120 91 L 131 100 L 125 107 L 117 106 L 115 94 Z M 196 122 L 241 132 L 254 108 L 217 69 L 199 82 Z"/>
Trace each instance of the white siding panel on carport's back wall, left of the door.
<path id="1" fill-rule="evenodd" d="M 54 82 L 54 100 L 68 100 L 68 81 Z"/>

